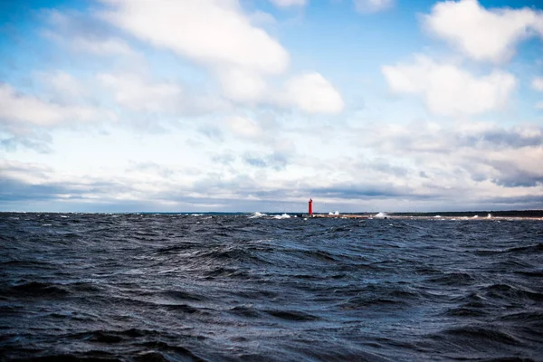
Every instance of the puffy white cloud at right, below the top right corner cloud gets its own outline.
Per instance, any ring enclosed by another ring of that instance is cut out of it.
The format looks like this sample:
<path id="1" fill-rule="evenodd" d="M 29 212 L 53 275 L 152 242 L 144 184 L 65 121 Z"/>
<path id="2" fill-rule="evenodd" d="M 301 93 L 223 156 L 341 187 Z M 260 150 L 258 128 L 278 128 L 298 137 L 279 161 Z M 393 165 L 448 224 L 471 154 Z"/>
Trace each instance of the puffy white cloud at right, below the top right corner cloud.
<path id="1" fill-rule="evenodd" d="M 423 97 L 435 114 L 457 116 L 499 110 L 516 88 L 517 81 L 505 71 L 477 77 L 452 63 L 438 63 L 423 55 L 414 63 L 383 66 L 381 71 L 395 93 Z"/>

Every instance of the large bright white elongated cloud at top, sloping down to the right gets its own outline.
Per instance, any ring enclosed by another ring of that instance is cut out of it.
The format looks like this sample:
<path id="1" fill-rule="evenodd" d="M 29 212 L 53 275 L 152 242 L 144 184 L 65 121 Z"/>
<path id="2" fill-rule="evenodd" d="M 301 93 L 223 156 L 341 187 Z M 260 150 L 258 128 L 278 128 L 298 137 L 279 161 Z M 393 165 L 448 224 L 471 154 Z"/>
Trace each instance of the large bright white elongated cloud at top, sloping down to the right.
<path id="1" fill-rule="evenodd" d="M 235 0 L 104 1 L 112 6 L 103 14 L 111 24 L 195 62 L 263 74 L 288 66 L 288 52 L 254 27 Z"/>

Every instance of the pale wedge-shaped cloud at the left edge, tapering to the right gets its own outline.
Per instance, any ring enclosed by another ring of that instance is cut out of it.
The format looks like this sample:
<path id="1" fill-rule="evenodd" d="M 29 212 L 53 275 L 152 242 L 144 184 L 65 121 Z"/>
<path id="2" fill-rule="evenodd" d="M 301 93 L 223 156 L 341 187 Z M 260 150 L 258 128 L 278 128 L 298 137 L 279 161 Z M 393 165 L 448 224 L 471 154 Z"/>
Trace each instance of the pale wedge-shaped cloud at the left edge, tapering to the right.
<path id="1" fill-rule="evenodd" d="M 0 122 L 51 127 L 60 123 L 112 119 L 109 113 L 79 105 L 61 105 L 31 95 L 17 93 L 11 86 L 0 85 Z"/>

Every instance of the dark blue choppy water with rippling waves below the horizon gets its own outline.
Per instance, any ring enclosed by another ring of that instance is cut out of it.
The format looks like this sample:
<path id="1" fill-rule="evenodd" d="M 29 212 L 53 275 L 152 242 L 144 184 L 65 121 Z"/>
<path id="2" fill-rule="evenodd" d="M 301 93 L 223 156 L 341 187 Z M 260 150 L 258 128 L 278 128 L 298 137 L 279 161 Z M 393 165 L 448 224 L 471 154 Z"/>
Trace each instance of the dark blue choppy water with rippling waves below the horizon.
<path id="1" fill-rule="evenodd" d="M 0 214 L 5 360 L 543 360 L 540 221 Z"/>

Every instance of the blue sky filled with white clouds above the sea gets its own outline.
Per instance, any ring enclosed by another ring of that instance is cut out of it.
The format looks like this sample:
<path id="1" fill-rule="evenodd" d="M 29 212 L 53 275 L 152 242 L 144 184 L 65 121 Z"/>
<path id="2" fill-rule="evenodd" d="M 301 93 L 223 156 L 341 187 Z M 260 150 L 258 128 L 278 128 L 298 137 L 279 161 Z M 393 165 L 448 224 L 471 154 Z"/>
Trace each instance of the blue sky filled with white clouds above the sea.
<path id="1" fill-rule="evenodd" d="M 543 3 L 0 1 L 0 211 L 543 209 Z"/>

